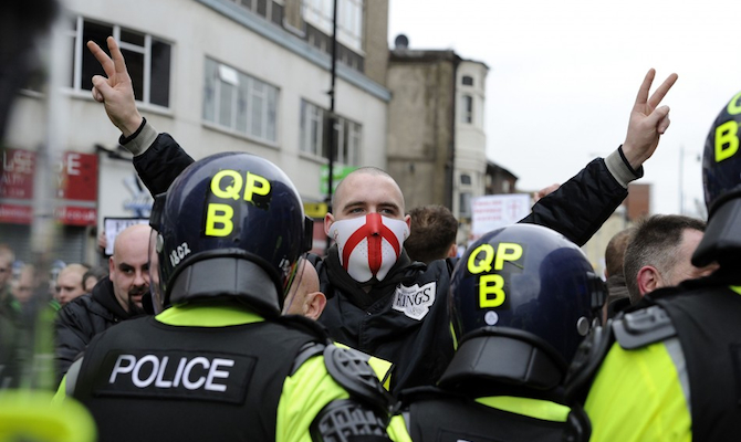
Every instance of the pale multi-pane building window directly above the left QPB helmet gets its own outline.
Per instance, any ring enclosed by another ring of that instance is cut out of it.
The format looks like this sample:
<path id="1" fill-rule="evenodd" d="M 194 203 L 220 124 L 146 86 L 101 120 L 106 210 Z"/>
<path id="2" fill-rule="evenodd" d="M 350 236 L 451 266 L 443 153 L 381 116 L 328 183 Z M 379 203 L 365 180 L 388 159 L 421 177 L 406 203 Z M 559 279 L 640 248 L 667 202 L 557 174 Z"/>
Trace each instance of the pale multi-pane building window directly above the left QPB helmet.
<path id="1" fill-rule="evenodd" d="M 265 141 L 276 141 L 278 88 L 206 59 L 203 119 Z"/>

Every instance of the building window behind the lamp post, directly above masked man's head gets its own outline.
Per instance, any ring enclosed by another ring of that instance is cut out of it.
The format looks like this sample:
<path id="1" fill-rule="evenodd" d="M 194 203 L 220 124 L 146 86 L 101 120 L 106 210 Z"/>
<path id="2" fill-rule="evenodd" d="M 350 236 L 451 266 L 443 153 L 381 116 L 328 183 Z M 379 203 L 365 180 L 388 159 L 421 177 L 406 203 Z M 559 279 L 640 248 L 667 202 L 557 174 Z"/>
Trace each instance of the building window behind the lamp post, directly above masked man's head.
<path id="1" fill-rule="evenodd" d="M 300 148 L 302 152 L 330 158 L 328 140 L 326 138 L 327 118 L 328 112 L 312 103 L 301 101 Z M 337 116 L 334 129 L 337 140 L 335 161 L 345 166 L 358 166 L 361 164 L 363 126 Z"/>

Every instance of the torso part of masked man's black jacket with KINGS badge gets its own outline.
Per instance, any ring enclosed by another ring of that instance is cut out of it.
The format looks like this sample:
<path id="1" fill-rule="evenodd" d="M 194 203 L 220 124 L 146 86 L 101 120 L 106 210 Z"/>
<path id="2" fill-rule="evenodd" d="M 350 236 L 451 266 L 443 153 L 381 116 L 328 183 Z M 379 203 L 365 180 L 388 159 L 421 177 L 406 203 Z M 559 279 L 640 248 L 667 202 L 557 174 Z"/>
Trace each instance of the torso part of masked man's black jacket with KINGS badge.
<path id="1" fill-rule="evenodd" d="M 394 362 L 393 392 L 437 380 L 453 351 L 448 261 L 413 263 L 403 252 L 368 293 L 342 269 L 336 246 L 317 271 L 321 291 L 327 296 L 319 322 L 333 339 Z"/>

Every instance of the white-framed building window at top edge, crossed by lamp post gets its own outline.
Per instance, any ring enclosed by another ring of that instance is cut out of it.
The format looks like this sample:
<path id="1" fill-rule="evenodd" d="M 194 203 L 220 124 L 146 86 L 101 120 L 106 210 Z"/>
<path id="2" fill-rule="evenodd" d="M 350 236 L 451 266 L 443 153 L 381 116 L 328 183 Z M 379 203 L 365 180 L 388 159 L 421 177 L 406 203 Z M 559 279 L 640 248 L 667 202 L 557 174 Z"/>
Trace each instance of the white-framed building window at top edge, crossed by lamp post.
<path id="1" fill-rule="evenodd" d="M 304 20 L 326 35 L 332 35 L 334 0 L 304 0 Z M 363 0 L 337 1 L 337 41 L 354 50 L 363 50 Z"/>

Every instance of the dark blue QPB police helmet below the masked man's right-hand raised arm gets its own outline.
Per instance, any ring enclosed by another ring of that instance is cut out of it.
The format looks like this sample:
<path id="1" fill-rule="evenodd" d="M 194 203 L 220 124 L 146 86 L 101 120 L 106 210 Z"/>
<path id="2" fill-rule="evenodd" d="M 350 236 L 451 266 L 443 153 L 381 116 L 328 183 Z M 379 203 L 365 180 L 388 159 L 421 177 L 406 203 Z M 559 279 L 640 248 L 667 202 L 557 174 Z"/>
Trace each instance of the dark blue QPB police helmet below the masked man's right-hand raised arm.
<path id="1" fill-rule="evenodd" d="M 544 227 L 509 225 L 471 244 L 453 271 L 453 338 L 459 350 L 482 335 L 528 341 L 563 375 L 604 298 L 578 246 Z"/>

